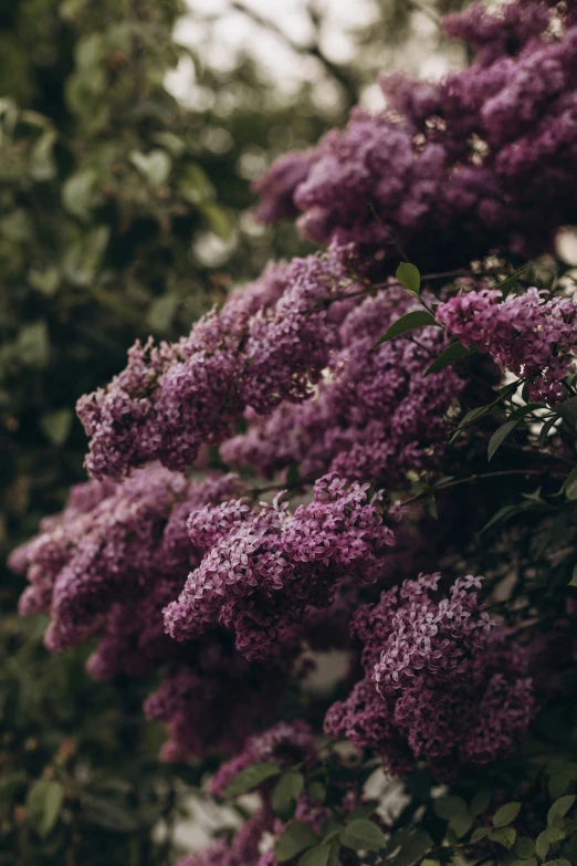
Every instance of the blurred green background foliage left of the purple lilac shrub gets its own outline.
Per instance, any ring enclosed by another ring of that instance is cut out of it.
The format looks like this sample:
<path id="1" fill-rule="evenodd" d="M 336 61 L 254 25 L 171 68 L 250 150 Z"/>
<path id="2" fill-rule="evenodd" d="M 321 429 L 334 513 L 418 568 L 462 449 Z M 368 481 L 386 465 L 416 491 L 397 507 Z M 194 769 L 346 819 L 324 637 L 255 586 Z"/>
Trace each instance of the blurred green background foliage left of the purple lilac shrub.
<path id="1" fill-rule="evenodd" d="M 365 60 L 409 25 L 407 3 L 382 9 L 382 25 L 359 31 Z M 174 862 L 170 831 L 202 768 L 157 761 L 134 686 L 93 682 L 84 653 L 48 656 L 44 622 L 14 613 L 21 586 L 3 562 L 83 478 L 77 397 L 124 366 L 135 338 L 185 333 L 231 274 L 306 249 L 293 227 L 254 225 L 250 180 L 343 123 L 373 76 L 311 44 L 300 52 L 332 80 L 333 102 L 319 111 L 314 82 L 282 100 L 253 58 L 223 71 L 177 45 L 183 11 L 180 0 L 0 2 L 2 865 Z M 165 87 L 183 59 L 204 105 Z"/>

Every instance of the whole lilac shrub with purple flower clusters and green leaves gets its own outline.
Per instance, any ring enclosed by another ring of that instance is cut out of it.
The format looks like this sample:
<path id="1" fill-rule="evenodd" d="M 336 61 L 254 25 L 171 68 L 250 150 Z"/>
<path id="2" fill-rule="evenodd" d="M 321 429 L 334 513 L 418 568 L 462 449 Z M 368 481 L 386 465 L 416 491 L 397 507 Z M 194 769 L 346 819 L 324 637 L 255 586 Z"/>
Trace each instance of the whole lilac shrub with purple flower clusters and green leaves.
<path id="1" fill-rule="evenodd" d="M 259 181 L 327 249 L 136 344 L 78 403 L 94 480 L 12 555 L 50 649 L 156 674 L 165 760 L 255 793 L 181 866 L 577 856 L 576 12 L 444 27 L 468 70 Z"/>

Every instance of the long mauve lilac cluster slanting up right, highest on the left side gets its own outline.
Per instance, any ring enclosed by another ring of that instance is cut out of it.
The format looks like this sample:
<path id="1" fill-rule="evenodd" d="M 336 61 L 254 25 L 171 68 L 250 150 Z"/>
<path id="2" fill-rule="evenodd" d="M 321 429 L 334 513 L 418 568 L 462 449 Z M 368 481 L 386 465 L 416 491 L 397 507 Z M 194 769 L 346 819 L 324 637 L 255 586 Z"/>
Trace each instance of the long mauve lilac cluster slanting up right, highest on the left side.
<path id="1" fill-rule="evenodd" d="M 181 470 L 230 435 L 246 406 L 271 411 L 311 394 L 334 342 L 329 302 L 347 284 L 336 255 L 276 264 L 174 344 L 136 343 L 107 388 L 82 397 L 86 466 L 118 477 L 159 460 Z"/>

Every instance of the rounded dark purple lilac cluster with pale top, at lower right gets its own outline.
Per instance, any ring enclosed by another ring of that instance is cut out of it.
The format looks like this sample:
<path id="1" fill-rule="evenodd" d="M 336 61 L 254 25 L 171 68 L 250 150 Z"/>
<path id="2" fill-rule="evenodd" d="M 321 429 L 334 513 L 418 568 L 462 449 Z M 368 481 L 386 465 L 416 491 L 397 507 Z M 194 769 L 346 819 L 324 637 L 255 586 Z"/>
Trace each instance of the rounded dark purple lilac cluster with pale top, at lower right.
<path id="1" fill-rule="evenodd" d="M 365 676 L 333 705 L 325 730 L 382 754 L 405 774 L 426 759 L 439 780 L 511 752 L 534 710 L 527 656 L 479 604 L 481 578 L 420 575 L 357 612 Z"/>

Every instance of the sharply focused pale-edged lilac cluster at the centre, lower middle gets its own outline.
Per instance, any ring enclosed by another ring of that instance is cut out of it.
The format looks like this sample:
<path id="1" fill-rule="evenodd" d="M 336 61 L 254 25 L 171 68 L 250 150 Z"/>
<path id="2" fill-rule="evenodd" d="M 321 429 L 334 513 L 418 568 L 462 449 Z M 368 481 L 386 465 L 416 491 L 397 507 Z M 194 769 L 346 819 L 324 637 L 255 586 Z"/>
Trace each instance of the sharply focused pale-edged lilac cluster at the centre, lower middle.
<path id="1" fill-rule="evenodd" d="M 165 609 L 168 633 L 186 640 L 220 625 L 249 659 L 283 650 L 307 608 L 328 607 L 344 577 L 356 585 L 379 577 L 395 534 L 380 494 L 369 499 L 367 489 L 333 474 L 294 513 L 282 497 L 253 510 L 240 499 L 192 512 L 190 538 L 204 556 Z"/>

